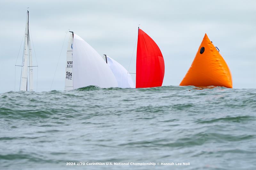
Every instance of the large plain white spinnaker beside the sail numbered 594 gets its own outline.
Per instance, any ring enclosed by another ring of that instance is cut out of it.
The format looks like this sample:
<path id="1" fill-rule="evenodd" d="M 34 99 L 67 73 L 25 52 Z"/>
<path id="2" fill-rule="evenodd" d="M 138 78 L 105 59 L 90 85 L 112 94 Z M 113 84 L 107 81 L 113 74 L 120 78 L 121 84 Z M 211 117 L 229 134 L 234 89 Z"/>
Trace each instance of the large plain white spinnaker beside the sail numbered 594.
<path id="1" fill-rule="evenodd" d="M 101 56 L 81 37 L 73 39 L 74 89 L 95 85 L 103 88 L 117 87 L 117 81 Z"/>

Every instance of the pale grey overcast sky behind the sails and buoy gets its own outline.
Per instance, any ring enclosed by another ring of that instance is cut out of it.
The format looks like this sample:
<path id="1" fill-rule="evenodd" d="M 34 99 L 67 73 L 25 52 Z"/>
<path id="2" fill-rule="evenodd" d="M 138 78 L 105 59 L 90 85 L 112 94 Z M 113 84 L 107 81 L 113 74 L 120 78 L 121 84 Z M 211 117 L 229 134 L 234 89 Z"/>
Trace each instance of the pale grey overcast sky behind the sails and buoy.
<path id="1" fill-rule="evenodd" d="M 1 93 L 14 91 L 14 65 L 23 40 L 27 7 L 35 45 L 32 50 L 39 66 L 38 91 L 50 90 L 65 31 L 74 31 L 100 55 L 107 54 L 128 69 L 138 24 L 162 51 L 163 85 L 180 84 L 207 33 L 231 70 L 233 87 L 256 88 L 256 1 L 1 0 Z M 64 90 L 68 37 L 52 90 Z M 23 45 L 17 64 L 21 63 L 22 51 Z M 135 72 L 135 64 L 136 47 L 129 72 Z M 36 69 L 34 74 L 36 88 Z M 16 67 L 16 91 L 19 83 L 20 68 Z"/>

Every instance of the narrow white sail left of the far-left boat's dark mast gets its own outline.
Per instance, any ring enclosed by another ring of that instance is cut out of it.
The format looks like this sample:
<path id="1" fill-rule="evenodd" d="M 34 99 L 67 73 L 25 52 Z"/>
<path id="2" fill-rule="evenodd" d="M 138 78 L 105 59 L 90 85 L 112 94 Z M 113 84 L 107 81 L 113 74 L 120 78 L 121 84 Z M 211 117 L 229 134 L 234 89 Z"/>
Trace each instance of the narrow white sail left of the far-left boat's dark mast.
<path id="1" fill-rule="evenodd" d="M 24 40 L 24 53 L 22 60 L 22 70 L 20 77 L 20 91 L 27 91 L 28 84 L 28 17 L 26 21 L 25 40 Z"/>

